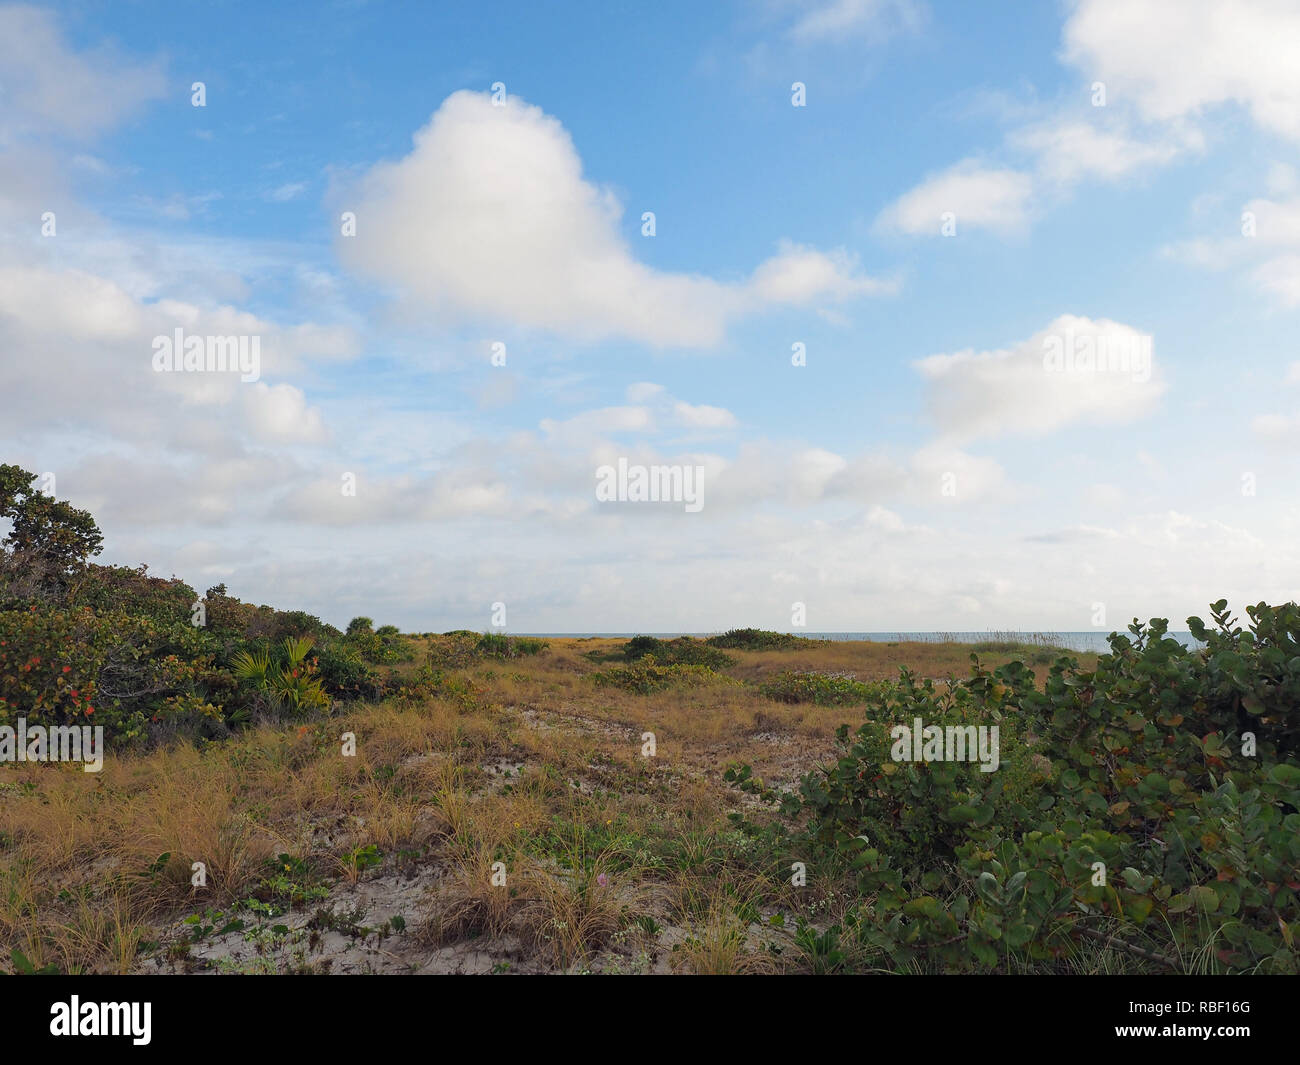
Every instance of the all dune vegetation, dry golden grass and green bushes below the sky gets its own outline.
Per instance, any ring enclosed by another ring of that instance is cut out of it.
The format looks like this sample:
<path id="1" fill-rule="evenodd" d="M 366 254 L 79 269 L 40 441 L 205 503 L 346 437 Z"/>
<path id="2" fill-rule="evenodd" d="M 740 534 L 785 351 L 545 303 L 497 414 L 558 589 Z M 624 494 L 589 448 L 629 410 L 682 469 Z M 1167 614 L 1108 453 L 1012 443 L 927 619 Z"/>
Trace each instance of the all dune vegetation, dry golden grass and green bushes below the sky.
<path id="1" fill-rule="evenodd" d="M 0 726 L 109 739 L 0 765 L 0 967 L 1300 967 L 1295 603 L 1045 662 L 339 631 L 96 566 L 30 482 L 0 467 Z"/>

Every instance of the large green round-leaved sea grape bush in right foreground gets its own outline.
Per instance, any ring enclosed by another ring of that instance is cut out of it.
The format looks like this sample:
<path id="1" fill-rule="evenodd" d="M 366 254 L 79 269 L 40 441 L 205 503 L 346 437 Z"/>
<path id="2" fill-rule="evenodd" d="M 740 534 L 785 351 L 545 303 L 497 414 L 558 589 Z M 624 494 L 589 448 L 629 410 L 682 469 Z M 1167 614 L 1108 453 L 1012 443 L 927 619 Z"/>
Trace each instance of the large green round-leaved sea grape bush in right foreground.
<path id="1" fill-rule="evenodd" d="M 940 688 L 906 672 L 842 756 L 780 796 L 786 845 L 850 871 L 838 926 L 863 965 L 1044 965 L 1105 943 L 1138 966 L 1296 973 L 1300 610 L 1225 602 L 1187 649 L 1134 622 L 1095 670 L 1067 654 L 1041 690 L 1011 662 Z M 992 724 L 1001 765 L 897 762 L 889 730 Z"/>

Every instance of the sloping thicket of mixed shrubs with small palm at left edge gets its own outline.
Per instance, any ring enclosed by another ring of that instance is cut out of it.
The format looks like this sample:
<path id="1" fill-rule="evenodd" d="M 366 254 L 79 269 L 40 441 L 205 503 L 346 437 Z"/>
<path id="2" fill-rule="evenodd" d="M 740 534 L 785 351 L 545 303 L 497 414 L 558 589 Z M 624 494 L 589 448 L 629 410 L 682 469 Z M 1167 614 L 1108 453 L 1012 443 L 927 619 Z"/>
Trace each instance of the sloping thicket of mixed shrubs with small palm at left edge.
<path id="1" fill-rule="evenodd" d="M 224 584 L 200 597 L 144 566 L 94 564 L 94 519 L 35 480 L 0 466 L 0 516 L 12 523 L 0 544 L 0 723 L 96 724 L 114 740 L 220 736 L 259 714 L 377 698 L 373 667 L 413 657 L 395 628 L 369 619 L 342 633 L 240 602 Z"/>

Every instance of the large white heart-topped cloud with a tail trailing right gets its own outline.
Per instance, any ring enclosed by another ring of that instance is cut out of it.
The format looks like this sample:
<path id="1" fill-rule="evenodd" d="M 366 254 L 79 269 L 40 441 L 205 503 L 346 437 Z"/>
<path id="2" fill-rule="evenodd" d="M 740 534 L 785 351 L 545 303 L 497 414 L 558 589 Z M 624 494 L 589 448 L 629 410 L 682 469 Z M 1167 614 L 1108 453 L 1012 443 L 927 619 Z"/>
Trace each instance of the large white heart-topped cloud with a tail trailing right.
<path id="1" fill-rule="evenodd" d="M 356 235 L 352 268 L 443 316 L 510 321 L 580 339 L 716 343 L 729 320 L 770 304 L 809 306 L 887 290 L 846 252 L 785 243 L 748 282 L 640 263 L 623 207 L 582 174 L 560 122 L 486 94 L 448 96 L 413 151 L 339 195 Z"/>

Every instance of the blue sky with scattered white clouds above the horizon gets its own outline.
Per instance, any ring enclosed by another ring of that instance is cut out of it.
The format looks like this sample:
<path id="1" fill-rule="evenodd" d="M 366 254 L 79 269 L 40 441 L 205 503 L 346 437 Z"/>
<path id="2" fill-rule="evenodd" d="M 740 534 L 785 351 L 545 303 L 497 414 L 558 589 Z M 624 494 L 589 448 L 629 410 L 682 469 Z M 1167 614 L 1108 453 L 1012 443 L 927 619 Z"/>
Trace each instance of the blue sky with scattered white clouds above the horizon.
<path id="1" fill-rule="evenodd" d="M 334 624 L 1182 628 L 1297 598 L 1297 148 L 1274 0 L 0 3 L 0 460 Z"/>

